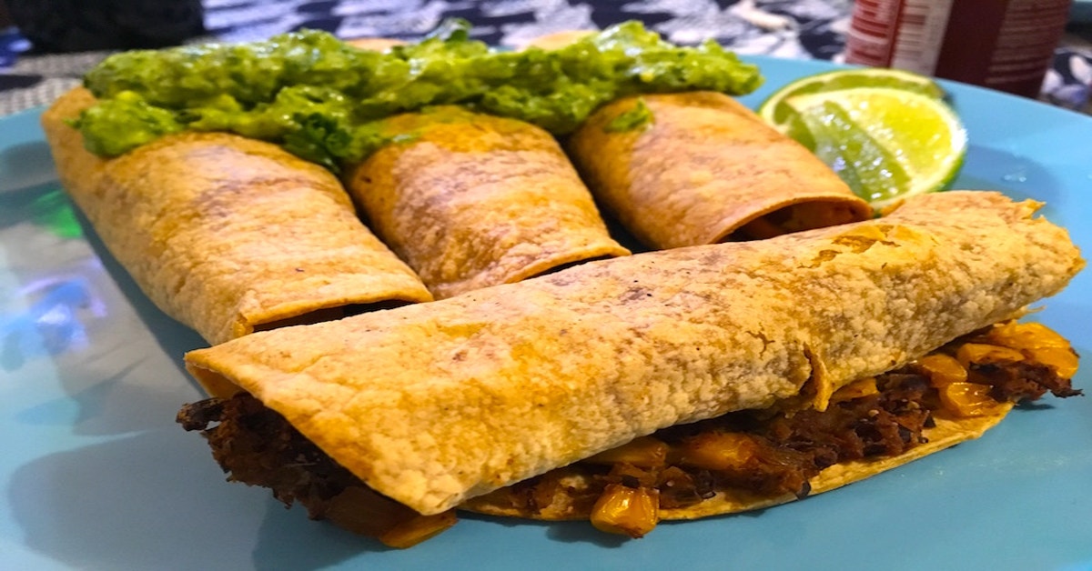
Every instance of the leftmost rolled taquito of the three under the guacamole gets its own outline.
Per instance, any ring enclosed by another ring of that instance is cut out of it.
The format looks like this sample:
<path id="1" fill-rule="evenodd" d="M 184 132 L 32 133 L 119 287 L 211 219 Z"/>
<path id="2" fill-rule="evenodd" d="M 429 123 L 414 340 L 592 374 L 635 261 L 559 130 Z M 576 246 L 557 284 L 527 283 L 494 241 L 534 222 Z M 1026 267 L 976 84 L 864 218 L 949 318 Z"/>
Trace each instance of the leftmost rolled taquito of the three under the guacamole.
<path id="1" fill-rule="evenodd" d="M 431 300 L 321 167 L 224 133 L 100 158 L 66 123 L 94 100 L 78 88 L 43 115 L 61 182 L 152 301 L 211 344 Z"/>

